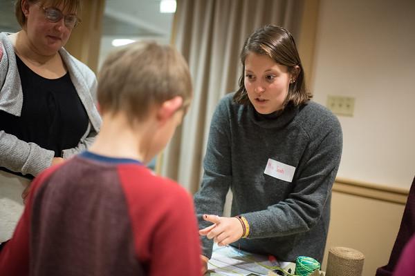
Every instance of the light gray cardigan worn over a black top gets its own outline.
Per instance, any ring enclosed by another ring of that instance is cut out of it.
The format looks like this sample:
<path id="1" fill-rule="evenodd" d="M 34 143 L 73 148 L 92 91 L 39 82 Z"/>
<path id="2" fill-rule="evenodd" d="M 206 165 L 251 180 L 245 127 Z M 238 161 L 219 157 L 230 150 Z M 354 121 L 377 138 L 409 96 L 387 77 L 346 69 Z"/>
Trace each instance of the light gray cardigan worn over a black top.
<path id="1" fill-rule="evenodd" d="M 101 118 L 95 106 L 97 88 L 95 74 L 84 63 L 71 56 L 64 48 L 59 50 L 68 68 L 71 81 L 89 117 L 88 128 L 75 148 L 62 151 L 68 158 L 89 147 L 100 130 Z M 23 92 L 15 57 L 15 50 L 8 34 L 0 33 L 0 110 L 20 116 L 23 105 Z M 0 166 L 24 175 L 37 175 L 50 166 L 55 153 L 34 143 L 26 143 L 0 130 Z"/>

